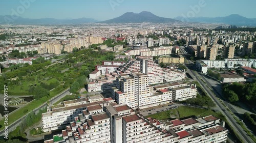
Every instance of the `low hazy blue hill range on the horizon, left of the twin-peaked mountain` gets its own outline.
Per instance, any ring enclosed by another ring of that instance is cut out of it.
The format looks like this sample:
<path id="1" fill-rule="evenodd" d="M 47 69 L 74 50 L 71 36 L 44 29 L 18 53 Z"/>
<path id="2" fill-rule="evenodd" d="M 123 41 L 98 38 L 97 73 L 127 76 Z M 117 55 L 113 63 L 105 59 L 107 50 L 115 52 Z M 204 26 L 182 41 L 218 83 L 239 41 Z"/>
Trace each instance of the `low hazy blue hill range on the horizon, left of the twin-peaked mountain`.
<path id="1" fill-rule="evenodd" d="M 81 23 L 95 23 L 98 22 L 92 18 L 77 18 L 77 19 L 55 19 L 55 18 L 41 18 L 30 19 L 23 17 L 12 18 L 11 15 L 0 15 L 0 24 L 81 24 Z"/>

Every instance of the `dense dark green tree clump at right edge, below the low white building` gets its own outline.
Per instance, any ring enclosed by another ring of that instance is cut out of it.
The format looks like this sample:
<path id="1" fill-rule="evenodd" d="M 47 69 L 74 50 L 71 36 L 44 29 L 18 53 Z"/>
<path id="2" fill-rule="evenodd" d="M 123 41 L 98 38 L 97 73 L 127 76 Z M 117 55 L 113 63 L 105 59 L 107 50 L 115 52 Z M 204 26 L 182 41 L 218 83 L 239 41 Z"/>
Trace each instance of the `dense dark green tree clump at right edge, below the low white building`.
<path id="1" fill-rule="evenodd" d="M 241 84 L 234 82 L 232 84 L 223 84 L 223 94 L 229 102 L 245 101 L 256 102 L 256 82 Z"/>

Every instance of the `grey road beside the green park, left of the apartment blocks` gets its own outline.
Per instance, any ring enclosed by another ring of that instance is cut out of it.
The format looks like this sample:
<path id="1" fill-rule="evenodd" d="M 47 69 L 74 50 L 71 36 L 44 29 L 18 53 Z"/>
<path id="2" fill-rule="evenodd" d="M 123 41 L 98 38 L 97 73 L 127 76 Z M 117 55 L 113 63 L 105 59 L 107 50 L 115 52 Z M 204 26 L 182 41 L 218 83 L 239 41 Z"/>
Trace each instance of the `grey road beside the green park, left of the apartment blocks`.
<path id="1" fill-rule="evenodd" d="M 59 95 L 57 95 L 57 96 L 51 98 L 51 99 L 49 100 L 49 102 L 50 102 L 50 104 L 52 105 L 52 104 L 56 103 L 58 100 L 60 100 L 61 98 L 65 97 L 66 95 L 69 95 L 69 94 L 70 94 L 69 89 L 67 89 L 67 90 L 63 91 L 62 93 L 60 93 Z M 38 113 L 40 109 L 45 108 L 46 106 L 47 106 L 47 102 L 45 102 L 45 103 L 42 104 L 41 106 L 35 108 L 33 111 L 34 111 L 35 113 Z M 19 118 L 19 119 L 16 120 L 14 123 L 12 123 L 11 125 L 9 125 L 9 126 L 8 126 L 8 132 L 11 132 L 11 131 L 15 130 L 16 127 L 19 126 L 19 124 L 22 122 L 23 119 L 26 118 L 27 115 L 28 115 L 28 114 L 26 114 L 25 116 Z M 3 135 L 4 135 L 4 130 L 0 131 L 0 136 L 3 136 Z"/>

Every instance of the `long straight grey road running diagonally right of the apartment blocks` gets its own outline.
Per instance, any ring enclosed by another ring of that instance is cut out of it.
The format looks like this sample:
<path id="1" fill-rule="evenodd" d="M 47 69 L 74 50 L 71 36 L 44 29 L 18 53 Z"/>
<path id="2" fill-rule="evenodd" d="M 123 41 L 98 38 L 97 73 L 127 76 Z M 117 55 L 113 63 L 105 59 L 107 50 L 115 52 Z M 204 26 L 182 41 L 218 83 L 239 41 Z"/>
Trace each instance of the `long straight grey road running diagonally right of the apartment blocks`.
<path id="1" fill-rule="evenodd" d="M 180 47 L 180 50 L 183 54 L 185 54 L 185 51 L 183 48 Z M 194 64 L 190 60 L 187 60 L 188 64 Z M 191 71 L 190 69 L 187 69 L 187 72 L 193 77 L 193 79 L 196 79 L 200 84 L 201 87 L 204 89 L 204 91 L 210 96 L 210 98 L 217 104 L 217 108 L 219 107 L 219 111 L 226 117 L 227 121 L 229 124 L 234 127 L 234 130 L 238 133 L 240 138 L 245 141 L 245 142 L 254 142 L 247 134 L 246 132 L 242 129 L 240 125 L 234 120 L 232 115 L 225 110 L 225 107 L 221 104 L 221 102 L 217 99 L 216 95 L 213 94 L 207 85 L 205 84 L 206 81 L 204 79 L 200 78 L 201 75 L 199 75 L 196 71 Z M 204 81 L 204 82 L 203 82 Z"/>

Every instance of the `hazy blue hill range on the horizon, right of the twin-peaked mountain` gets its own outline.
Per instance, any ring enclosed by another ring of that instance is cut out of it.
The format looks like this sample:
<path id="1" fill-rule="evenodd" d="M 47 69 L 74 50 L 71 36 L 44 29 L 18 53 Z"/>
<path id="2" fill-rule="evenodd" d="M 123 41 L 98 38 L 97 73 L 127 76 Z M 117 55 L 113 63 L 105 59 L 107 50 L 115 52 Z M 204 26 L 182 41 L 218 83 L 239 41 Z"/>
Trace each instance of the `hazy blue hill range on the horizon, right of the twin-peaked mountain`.
<path id="1" fill-rule="evenodd" d="M 225 17 L 175 17 L 176 20 L 181 21 L 188 21 L 188 22 L 202 22 L 202 23 L 223 23 L 223 24 L 230 24 L 230 25 L 256 25 L 256 18 L 246 18 L 244 16 L 238 14 L 231 14 Z"/>

